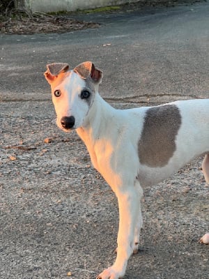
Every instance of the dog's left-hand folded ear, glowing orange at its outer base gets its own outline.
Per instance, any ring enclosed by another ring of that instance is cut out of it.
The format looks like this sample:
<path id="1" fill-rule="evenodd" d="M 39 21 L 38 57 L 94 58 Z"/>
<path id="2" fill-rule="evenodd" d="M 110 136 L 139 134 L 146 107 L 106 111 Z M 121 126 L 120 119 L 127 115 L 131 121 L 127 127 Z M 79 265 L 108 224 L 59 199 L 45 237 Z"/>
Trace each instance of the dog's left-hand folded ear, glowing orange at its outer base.
<path id="1" fill-rule="evenodd" d="M 45 78 L 49 84 L 52 84 L 56 77 L 60 73 L 65 73 L 69 69 L 69 65 L 67 63 L 52 63 L 47 65 L 47 70 L 45 71 Z"/>

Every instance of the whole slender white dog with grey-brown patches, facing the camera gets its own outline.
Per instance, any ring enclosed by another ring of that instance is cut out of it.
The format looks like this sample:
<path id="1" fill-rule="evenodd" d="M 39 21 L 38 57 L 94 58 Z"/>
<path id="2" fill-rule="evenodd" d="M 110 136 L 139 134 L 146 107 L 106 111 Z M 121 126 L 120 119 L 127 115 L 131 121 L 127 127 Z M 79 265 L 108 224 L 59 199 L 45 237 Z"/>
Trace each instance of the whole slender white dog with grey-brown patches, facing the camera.
<path id="1" fill-rule="evenodd" d="M 92 62 L 73 70 L 67 63 L 52 63 L 45 77 L 52 87 L 57 125 L 65 132 L 77 131 L 93 166 L 118 198 L 116 262 L 98 278 L 121 278 L 139 246 L 141 187 L 167 179 L 202 154 L 209 182 L 209 99 L 116 110 L 100 97 L 102 72 Z"/>

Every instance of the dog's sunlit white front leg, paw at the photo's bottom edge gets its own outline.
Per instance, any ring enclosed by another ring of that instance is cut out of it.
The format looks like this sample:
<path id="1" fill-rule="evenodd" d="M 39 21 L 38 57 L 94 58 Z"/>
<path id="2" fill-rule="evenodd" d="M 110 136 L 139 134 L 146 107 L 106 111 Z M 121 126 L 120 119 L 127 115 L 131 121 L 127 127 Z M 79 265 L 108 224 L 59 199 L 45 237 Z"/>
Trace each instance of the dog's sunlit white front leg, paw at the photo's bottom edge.
<path id="1" fill-rule="evenodd" d="M 134 229 L 139 212 L 139 193 L 134 186 L 117 194 L 119 206 L 118 249 L 116 262 L 97 279 L 118 279 L 125 275 L 127 260 L 134 250 Z"/>

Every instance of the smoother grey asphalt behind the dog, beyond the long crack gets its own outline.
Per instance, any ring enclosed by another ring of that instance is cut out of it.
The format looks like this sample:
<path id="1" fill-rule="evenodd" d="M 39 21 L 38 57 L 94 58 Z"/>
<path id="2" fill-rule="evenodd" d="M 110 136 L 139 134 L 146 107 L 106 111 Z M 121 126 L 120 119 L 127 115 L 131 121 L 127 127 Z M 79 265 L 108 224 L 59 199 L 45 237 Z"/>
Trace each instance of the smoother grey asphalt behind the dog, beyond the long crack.
<path id="1" fill-rule="evenodd" d="M 0 98 L 48 99 L 45 64 L 93 61 L 104 71 L 102 96 L 164 102 L 208 96 L 209 6 L 196 3 L 130 13 L 77 15 L 99 29 L 0 35 Z"/>

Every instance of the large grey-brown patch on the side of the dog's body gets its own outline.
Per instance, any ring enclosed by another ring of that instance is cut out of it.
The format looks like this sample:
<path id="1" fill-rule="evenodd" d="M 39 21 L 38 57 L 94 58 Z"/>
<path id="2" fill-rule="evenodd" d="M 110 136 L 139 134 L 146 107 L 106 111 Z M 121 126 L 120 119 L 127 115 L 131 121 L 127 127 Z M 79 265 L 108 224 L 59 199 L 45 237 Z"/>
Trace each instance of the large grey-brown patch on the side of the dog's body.
<path id="1" fill-rule="evenodd" d="M 164 167 L 176 151 L 176 135 L 181 116 L 176 105 L 160 105 L 147 110 L 138 152 L 142 165 Z"/>

